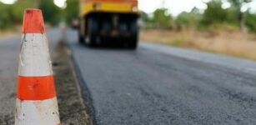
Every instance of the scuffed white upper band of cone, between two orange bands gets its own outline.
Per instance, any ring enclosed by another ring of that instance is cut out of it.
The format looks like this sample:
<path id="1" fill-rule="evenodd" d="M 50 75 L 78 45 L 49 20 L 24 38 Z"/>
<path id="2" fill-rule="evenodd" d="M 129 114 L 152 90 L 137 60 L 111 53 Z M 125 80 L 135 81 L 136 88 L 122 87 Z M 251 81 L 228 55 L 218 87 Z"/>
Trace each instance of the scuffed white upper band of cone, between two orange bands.
<path id="1" fill-rule="evenodd" d="M 52 62 L 45 33 L 23 34 L 18 75 L 40 77 L 52 74 Z"/>

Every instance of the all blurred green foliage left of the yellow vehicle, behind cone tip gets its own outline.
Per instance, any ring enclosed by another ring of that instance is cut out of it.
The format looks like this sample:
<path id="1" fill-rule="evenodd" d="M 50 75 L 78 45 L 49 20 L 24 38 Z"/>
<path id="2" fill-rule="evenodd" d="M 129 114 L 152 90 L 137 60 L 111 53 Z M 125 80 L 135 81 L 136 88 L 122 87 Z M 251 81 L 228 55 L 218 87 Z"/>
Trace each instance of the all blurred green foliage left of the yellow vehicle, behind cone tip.
<path id="1" fill-rule="evenodd" d="M 29 7 L 43 10 L 44 21 L 50 25 L 58 25 L 60 21 L 68 23 L 73 18 L 78 18 L 78 0 L 67 0 L 67 7 L 57 7 L 53 0 L 18 0 L 8 5 L 0 2 L 0 29 L 15 28 L 23 22 L 23 11 Z"/>

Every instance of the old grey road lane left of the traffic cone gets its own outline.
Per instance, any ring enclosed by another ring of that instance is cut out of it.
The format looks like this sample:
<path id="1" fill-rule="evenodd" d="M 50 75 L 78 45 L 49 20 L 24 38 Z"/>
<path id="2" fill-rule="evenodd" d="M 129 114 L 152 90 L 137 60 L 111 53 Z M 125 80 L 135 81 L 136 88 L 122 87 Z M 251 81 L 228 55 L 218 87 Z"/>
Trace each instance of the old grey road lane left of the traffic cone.
<path id="1" fill-rule="evenodd" d="M 18 73 L 19 37 L 0 39 L 0 124 L 13 124 Z M 17 44 L 18 43 L 18 44 Z"/>

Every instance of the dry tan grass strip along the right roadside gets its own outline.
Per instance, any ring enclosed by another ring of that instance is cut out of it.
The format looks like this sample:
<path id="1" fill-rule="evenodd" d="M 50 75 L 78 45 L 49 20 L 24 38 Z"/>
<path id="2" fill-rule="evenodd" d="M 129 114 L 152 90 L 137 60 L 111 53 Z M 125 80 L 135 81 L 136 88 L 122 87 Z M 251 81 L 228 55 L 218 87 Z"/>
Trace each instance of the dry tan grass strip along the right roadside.
<path id="1" fill-rule="evenodd" d="M 175 47 L 188 47 L 256 60 L 256 35 L 242 32 L 198 32 L 142 29 L 140 39 Z"/>

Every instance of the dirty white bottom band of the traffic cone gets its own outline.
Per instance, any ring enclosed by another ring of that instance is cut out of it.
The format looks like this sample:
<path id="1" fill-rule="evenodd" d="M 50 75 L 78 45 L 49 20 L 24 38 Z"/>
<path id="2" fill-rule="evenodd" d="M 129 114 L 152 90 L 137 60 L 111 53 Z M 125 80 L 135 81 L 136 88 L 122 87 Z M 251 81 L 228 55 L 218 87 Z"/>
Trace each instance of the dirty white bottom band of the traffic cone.
<path id="1" fill-rule="evenodd" d="M 57 98 L 42 101 L 21 101 L 17 99 L 15 125 L 58 125 Z"/>

